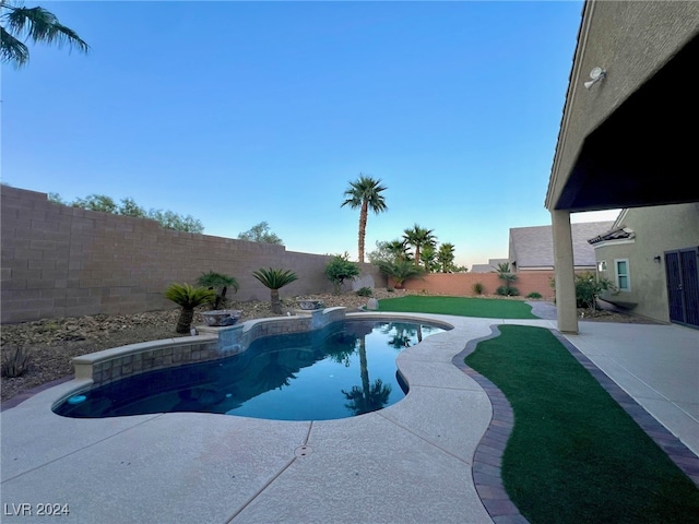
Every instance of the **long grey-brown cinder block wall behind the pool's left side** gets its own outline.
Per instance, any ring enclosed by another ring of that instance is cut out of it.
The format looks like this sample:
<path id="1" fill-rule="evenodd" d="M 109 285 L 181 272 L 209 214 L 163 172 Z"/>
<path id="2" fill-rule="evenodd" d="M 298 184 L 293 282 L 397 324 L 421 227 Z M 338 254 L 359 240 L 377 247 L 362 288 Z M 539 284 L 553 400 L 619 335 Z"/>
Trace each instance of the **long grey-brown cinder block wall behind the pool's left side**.
<path id="1" fill-rule="evenodd" d="M 332 290 L 323 273 L 327 255 L 167 230 L 154 221 L 59 205 L 46 193 L 7 186 L 0 194 L 2 323 L 173 308 L 165 288 L 193 284 L 210 270 L 237 278 L 240 289 L 228 295 L 237 300 L 269 299 L 252 276 L 260 267 L 298 275 L 282 297 Z M 386 286 L 372 265 L 362 271 L 363 285 Z"/>

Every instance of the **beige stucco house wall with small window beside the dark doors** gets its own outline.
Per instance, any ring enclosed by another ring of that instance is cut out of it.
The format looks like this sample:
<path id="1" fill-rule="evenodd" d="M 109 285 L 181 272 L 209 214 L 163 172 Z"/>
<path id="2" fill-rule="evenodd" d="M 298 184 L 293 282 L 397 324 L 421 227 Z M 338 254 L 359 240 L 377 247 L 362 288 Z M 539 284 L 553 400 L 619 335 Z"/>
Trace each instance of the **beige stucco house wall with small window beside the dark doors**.
<path id="1" fill-rule="evenodd" d="M 619 226 L 633 229 L 633 242 L 605 243 L 595 249 L 595 257 L 597 263 L 606 261 L 607 271 L 600 274 L 612 282 L 614 260 L 628 259 L 630 291 L 605 293 L 602 298 L 635 305 L 637 314 L 670 321 L 663 253 L 699 246 L 699 203 L 630 209 Z M 660 257 L 660 262 L 655 257 Z"/>

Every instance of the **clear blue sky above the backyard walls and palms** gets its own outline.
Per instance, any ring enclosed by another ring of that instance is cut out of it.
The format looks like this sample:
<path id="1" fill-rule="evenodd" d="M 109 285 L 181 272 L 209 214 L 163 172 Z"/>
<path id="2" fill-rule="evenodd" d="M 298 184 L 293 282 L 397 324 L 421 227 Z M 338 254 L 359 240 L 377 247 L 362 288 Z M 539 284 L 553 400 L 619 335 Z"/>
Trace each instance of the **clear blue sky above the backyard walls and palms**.
<path id="1" fill-rule="evenodd" d="M 287 250 L 354 260 L 359 174 L 388 187 L 367 251 L 418 224 L 471 267 L 550 224 L 581 1 L 35 4 L 92 49 L 2 67 L 13 187 L 130 196 L 221 237 L 265 221 Z"/>

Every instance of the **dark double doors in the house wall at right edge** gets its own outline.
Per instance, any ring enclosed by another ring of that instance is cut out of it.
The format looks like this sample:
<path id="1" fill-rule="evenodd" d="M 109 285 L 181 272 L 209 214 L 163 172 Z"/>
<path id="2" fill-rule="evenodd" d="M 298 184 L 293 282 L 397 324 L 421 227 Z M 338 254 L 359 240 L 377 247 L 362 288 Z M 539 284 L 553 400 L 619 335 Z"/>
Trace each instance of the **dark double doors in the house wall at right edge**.
<path id="1" fill-rule="evenodd" d="M 670 320 L 699 327 L 699 248 L 665 252 Z"/>

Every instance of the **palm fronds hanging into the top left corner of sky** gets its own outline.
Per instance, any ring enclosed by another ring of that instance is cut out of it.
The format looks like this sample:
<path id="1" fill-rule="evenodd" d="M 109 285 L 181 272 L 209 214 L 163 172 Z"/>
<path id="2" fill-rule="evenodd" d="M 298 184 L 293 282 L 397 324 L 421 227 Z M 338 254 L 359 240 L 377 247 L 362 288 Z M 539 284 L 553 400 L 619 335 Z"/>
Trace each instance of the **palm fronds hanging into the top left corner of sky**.
<path id="1" fill-rule="evenodd" d="M 90 46 L 73 29 L 62 25 L 54 13 L 44 8 L 10 5 L 7 0 L 0 0 L 0 56 L 2 62 L 10 62 L 16 69 L 29 60 L 29 49 L 24 44 L 26 40 L 56 44 L 58 47 L 68 44 L 70 48 L 75 47 L 82 52 L 90 50 Z"/>

